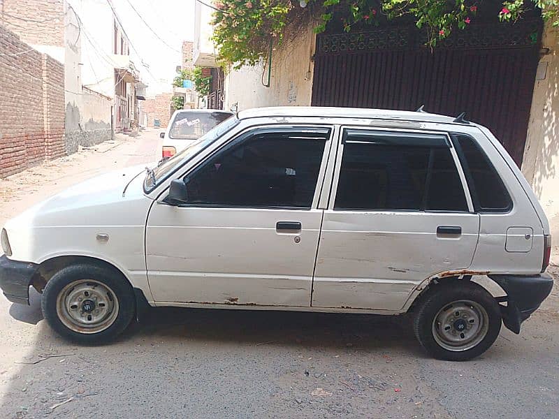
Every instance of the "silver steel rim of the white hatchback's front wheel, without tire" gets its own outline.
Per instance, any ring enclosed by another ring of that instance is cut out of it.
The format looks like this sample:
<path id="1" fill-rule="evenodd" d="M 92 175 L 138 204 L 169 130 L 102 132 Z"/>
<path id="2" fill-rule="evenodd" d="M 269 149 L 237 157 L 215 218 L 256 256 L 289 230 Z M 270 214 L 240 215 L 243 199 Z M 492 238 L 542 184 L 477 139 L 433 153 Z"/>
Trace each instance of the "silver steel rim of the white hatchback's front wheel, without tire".
<path id="1" fill-rule="evenodd" d="M 66 328 L 92 334 L 110 328 L 118 316 L 117 296 L 94 279 L 81 279 L 62 288 L 57 297 L 57 315 Z"/>

